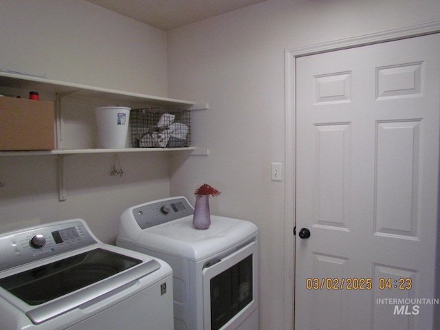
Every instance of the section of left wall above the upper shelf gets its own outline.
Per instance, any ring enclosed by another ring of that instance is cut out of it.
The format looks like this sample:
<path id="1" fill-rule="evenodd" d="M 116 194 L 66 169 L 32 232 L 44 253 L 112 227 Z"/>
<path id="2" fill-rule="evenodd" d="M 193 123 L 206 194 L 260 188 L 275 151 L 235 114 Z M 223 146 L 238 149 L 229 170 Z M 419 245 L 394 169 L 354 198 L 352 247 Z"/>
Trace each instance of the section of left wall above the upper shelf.
<path id="1" fill-rule="evenodd" d="M 83 0 L 3 0 L 0 68 L 166 96 L 166 33 Z"/>

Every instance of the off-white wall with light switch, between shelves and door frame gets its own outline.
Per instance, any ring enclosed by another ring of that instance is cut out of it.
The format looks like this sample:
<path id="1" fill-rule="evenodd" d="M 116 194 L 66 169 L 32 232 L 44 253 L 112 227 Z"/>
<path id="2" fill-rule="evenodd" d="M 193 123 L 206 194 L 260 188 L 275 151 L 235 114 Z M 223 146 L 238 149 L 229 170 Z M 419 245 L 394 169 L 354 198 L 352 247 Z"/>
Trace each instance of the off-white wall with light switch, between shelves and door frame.
<path id="1" fill-rule="evenodd" d="M 192 125 L 194 144 L 211 151 L 175 160 L 171 194 L 212 184 L 223 192 L 212 212 L 259 226 L 261 329 L 283 329 L 285 317 L 284 211 L 293 201 L 284 182 L 270 181 L 270 163 L 285 163 L 285 49 L 434 19 L 437 0 L 269 0 L 168 33 L 170 97 L 209 102 Z"/>

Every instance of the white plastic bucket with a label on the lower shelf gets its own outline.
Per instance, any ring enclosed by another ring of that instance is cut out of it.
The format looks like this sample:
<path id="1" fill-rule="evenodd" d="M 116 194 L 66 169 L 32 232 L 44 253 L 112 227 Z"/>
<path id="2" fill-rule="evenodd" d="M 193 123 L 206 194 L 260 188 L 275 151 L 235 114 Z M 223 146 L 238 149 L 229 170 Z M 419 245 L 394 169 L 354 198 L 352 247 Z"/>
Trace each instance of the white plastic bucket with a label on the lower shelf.
<path id="1" fill-rule="evenodd" d="M 125 148 L 129 131 L 130 108 L 100 107 L 95 109 L 100 146 Z"/>

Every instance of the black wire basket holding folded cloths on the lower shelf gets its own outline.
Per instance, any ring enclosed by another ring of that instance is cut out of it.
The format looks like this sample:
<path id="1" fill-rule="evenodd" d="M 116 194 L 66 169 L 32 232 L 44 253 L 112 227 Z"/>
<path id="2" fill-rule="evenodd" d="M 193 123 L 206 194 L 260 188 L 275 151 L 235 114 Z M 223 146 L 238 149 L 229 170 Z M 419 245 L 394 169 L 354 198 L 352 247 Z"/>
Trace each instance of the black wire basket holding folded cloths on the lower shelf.
<path id="1" fill-rule="evenodd" d="M 191 143 L 190 111 L 162 107 L 132 109 L 131 144 L 134 148 L 184 148 Z"/>

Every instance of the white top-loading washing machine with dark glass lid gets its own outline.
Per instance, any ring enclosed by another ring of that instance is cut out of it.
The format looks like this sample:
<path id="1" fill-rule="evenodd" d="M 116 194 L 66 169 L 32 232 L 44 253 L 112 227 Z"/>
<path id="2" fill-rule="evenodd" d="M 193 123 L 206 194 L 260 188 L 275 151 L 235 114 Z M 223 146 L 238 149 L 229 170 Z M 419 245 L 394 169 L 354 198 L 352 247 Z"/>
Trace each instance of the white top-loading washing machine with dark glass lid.
<path id="1" fill-rule="evenodd" d="M 2 330 L 173 329 L 171 267 L 82 219 L 0 234 L 0 250 Z"/>

